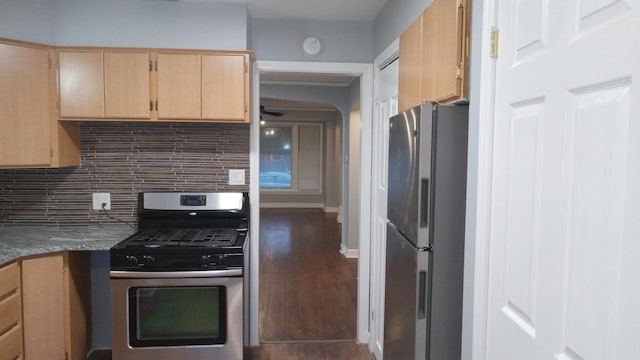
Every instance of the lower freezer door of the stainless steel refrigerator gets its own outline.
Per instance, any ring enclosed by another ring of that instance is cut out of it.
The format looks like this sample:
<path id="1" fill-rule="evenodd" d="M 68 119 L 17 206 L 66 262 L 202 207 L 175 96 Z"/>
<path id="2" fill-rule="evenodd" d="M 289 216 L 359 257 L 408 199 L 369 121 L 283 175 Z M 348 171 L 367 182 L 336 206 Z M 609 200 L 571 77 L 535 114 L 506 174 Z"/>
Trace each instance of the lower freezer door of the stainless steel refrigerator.
<path id="1" fill-rule="evenodd" d="M 425 359 L 429 253 L 417 251 L 387 225 L 385 272 L 385 359 Z"/>

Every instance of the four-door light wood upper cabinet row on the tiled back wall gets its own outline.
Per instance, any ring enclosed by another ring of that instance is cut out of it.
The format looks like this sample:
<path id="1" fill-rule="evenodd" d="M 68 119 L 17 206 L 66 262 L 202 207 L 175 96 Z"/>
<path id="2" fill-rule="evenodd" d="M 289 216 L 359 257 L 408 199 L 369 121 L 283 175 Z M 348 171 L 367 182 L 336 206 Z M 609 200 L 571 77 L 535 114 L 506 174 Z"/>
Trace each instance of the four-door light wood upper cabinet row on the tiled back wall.
<path id="1" fill-rule="evenodd" d="M 249 54 L 60 50 L 60 118 L 249 122 Z"/>

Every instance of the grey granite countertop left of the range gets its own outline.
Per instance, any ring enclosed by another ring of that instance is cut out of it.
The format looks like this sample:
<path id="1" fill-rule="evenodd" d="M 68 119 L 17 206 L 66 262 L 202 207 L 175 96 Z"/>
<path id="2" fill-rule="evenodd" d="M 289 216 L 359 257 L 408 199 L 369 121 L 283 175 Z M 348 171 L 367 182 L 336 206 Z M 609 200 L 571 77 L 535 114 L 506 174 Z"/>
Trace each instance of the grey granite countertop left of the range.
<path id="1" fill-rule="evenodd" d="M 127 225 L 0 227 L 0 265 L 65 250 L 109 250 L 135 232 Z"/>

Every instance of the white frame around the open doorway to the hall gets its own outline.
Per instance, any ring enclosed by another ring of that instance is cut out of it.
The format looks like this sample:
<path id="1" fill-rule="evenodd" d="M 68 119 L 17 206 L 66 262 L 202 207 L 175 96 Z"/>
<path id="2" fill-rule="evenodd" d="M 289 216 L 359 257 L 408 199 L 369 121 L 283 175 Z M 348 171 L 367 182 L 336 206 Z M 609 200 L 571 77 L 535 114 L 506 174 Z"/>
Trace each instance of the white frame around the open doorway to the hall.
<path id="1" fill-rule="evenodd" d="M 361 130 L 360 130 L 360 178 L 371 178 L 371 137 L 373 119 L 373 64 L 366 63 L 325 63 L 325 62 L 296 62 L 296 61 L 256 61 L 253 69 L 252 80 L 252 119 L 251 119 L 251 145 L 250 145 L 250 198 L 251 225 L 250 231 L 254 234 L 250 240 L 250 280 L 249 280 L 249 345 L 258 346 L 259 339 L 259 216 L 260 216 L 260 73 L 287 72 L 309 74 L 336 74 L 360 77 L 360 104 L 361 104 Z M 343 191 L 343 201 L 346 191 Z M 368 343 L 369 341 L 369 264 L 370 264 L 370 234 L 371 218 L 368 210 L 371 208 L 371 183 L 360 183 L 360 220 L 358 249 L 358 300 L 357 300 L 357 341 Z"/>

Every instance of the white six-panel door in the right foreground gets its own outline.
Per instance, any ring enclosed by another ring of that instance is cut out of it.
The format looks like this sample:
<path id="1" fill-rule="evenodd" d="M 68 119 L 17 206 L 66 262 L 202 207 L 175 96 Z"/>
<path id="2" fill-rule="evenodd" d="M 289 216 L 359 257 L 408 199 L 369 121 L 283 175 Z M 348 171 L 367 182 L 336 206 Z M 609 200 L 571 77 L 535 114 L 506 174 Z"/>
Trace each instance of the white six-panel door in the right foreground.
<path id="1" fill-rule="evenodd" d="M 485 358 L 639 359 L 638 1 L 498 6 Z"/>

